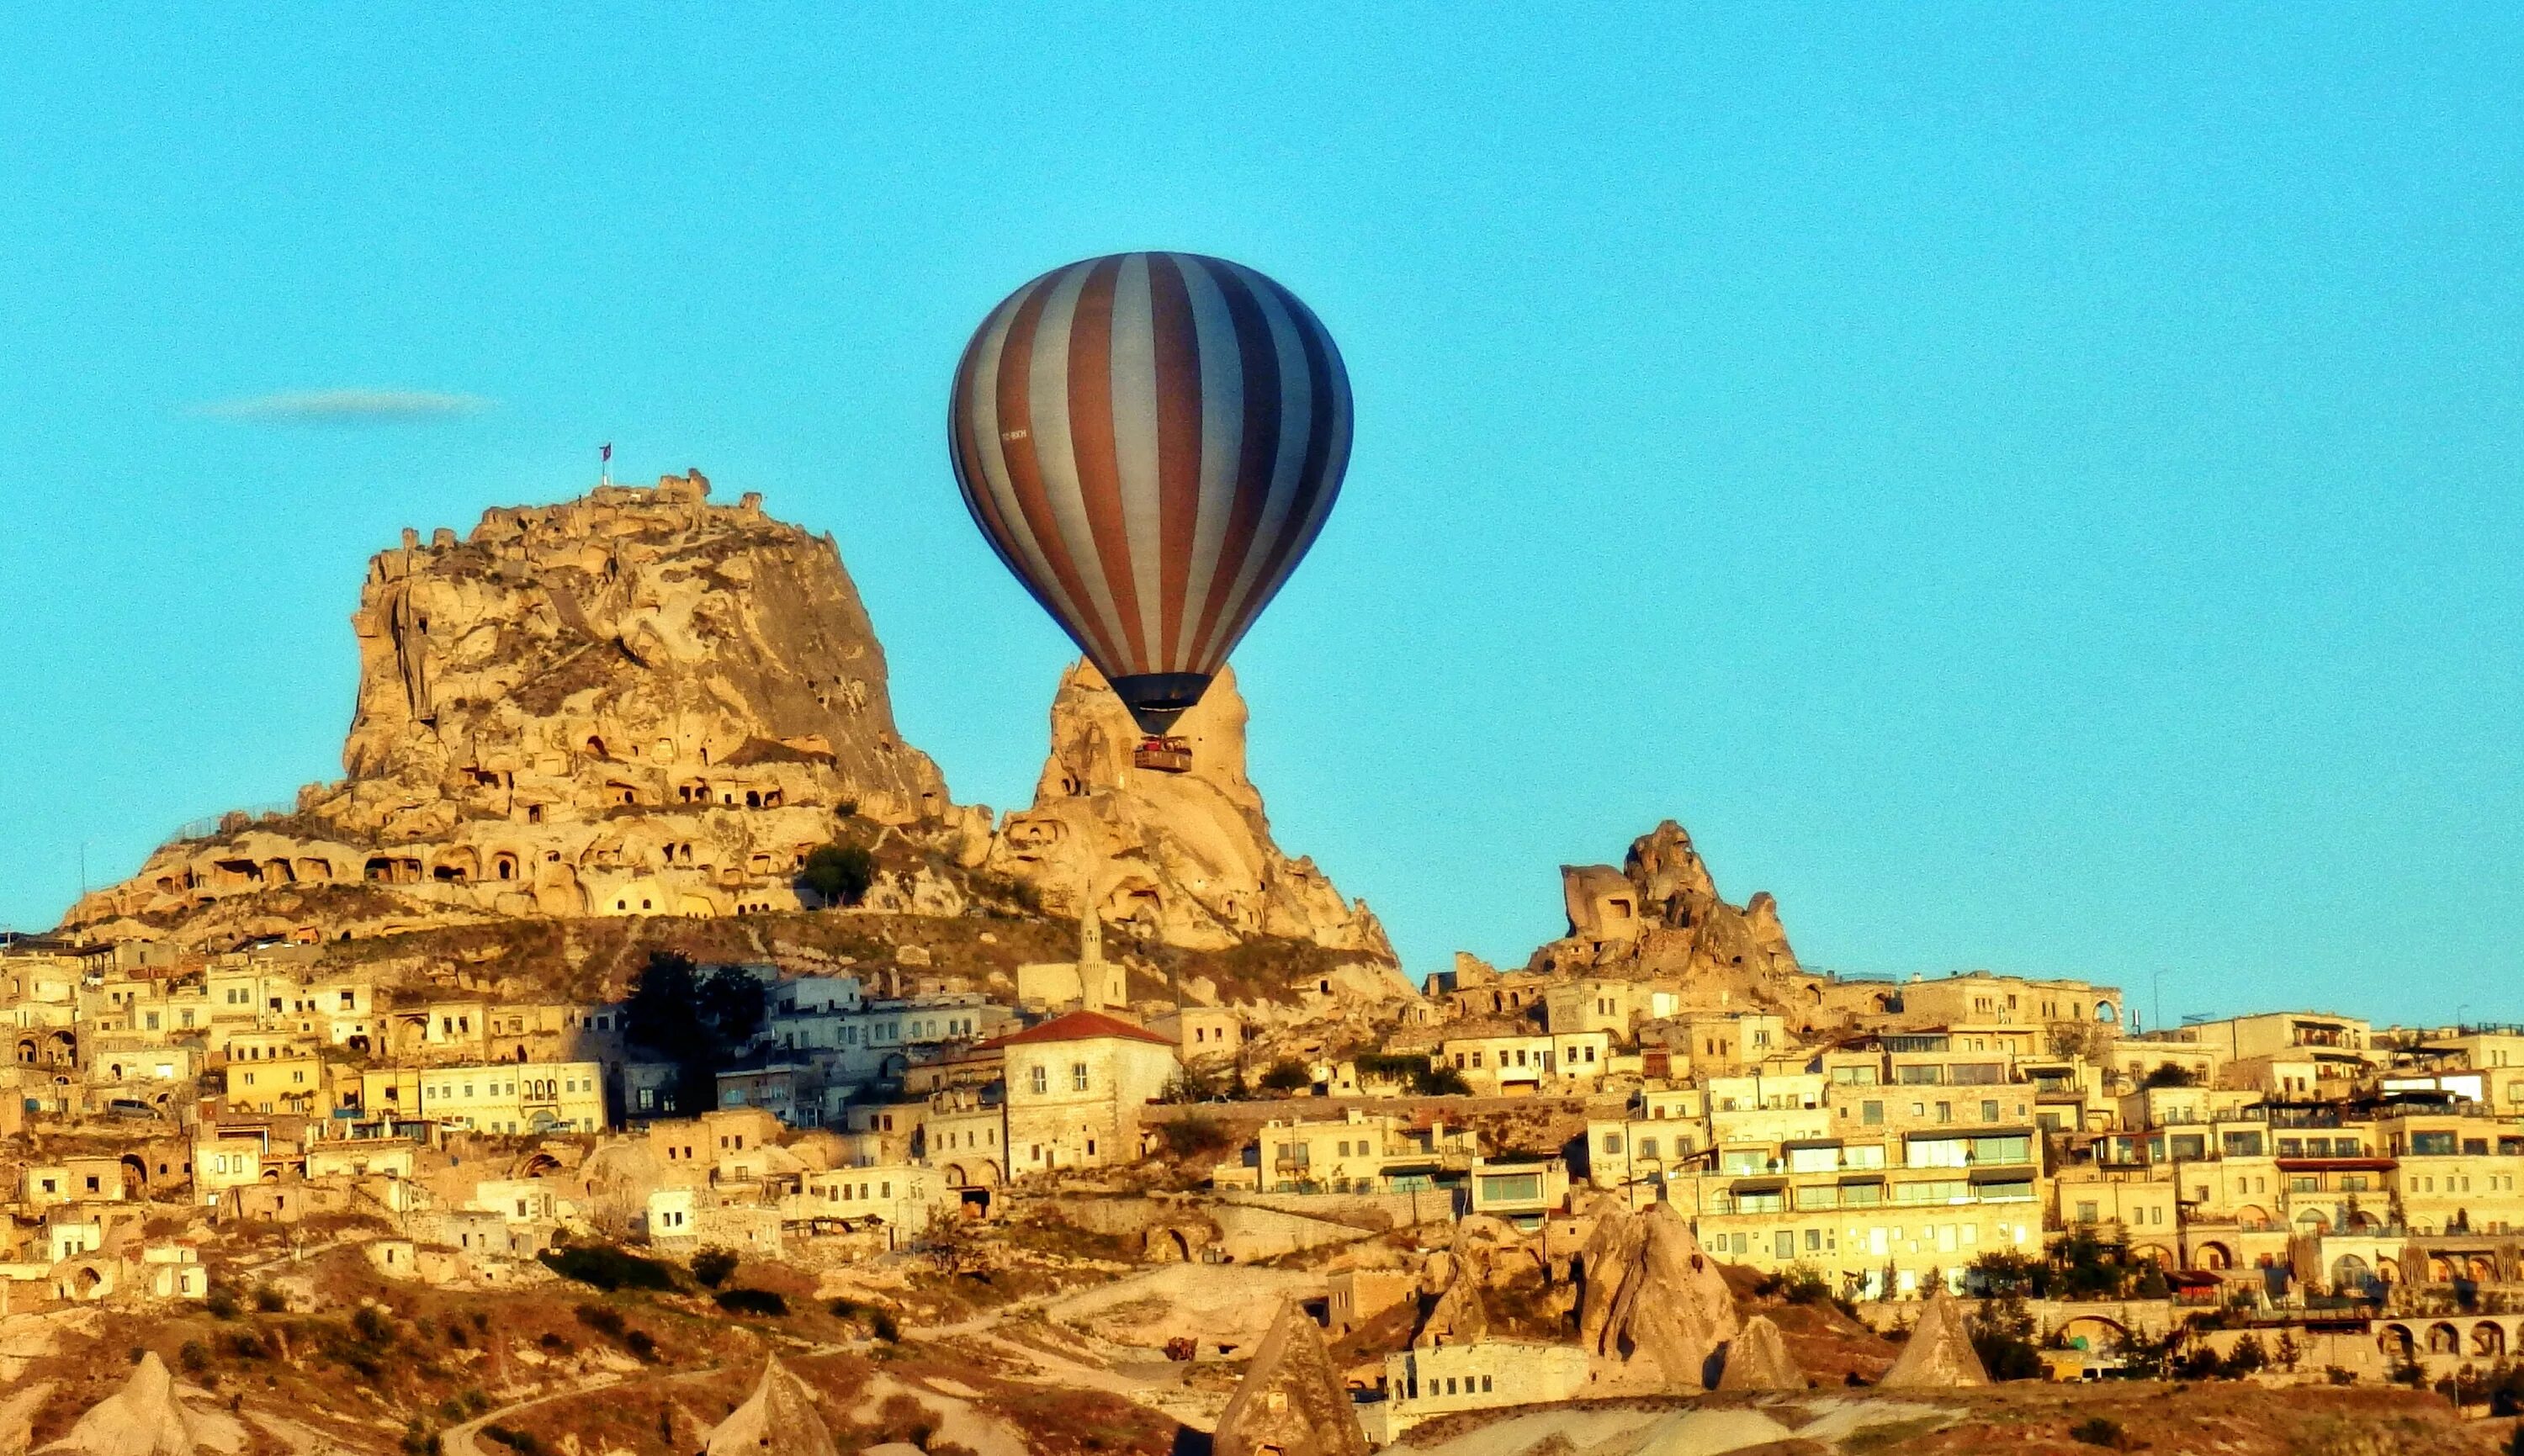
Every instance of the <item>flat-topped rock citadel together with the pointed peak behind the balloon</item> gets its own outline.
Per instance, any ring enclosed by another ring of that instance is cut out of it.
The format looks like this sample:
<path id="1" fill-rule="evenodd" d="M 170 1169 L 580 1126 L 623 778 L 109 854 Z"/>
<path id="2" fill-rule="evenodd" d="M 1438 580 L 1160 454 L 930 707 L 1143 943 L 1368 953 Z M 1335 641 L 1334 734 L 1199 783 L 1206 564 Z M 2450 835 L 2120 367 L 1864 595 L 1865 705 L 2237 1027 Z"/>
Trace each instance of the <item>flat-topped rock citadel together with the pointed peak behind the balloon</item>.
<path id="1" fill-rule="evenodd" d="M 1232 679 L 1186 717 L 1176 777 L 1131 767 L 1128 714 L 1075 669 L 1037 802 L 994 833 L 901 739 L 833 540 L 757 495 L 714 505 L 699 472 L 490 510 L 464 540 L 406 530 L 351 623 L 346 777 L 159 848 L 63 929 L 225 949 L 795 913 L 820 906 L 805 855 L 843 840 L 873 850 L 873 911 L 1095 903 L 1153 944 L 1391 959 L 1365 906 L 1270 840 Z"/>

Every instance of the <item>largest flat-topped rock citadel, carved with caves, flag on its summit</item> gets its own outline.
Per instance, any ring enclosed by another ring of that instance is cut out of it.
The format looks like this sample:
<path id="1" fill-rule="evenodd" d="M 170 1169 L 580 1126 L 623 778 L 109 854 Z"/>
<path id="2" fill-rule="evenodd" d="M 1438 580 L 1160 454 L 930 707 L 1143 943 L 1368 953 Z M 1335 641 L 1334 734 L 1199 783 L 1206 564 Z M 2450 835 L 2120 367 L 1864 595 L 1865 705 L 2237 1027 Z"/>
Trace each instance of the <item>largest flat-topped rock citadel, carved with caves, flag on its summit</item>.
<path id="1" fill-rule="evenodd" d="M 348 777 L 156 850 L 68 924 L 202 921 L 207 939 L 798 908 L 798 863 L 838 810 L 957 815 L 893 727 L 833 540 L 752 495 L 712 505 L 699 472 L 490 510 L 462 543 L 404 532 L 351 623 Z"/>

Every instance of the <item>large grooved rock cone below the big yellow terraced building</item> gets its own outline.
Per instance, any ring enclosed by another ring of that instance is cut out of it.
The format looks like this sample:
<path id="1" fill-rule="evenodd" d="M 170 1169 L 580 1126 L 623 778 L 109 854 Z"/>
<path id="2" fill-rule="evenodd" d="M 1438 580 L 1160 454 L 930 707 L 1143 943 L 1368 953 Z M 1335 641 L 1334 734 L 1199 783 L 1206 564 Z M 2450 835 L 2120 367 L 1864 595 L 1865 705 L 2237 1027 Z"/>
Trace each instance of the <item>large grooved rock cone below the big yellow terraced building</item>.
<path id="1" fill-rule="evenodd" d="M 1578 1345 L 1595 1363 L 1593 1385 L 1605 1393 L 1709 1385 L 1711 1358 L 1737 1337 L 1737 1307 L 1716 1259 L 1673 1204 L 1605 1214 L 1580 1264 Z"/>

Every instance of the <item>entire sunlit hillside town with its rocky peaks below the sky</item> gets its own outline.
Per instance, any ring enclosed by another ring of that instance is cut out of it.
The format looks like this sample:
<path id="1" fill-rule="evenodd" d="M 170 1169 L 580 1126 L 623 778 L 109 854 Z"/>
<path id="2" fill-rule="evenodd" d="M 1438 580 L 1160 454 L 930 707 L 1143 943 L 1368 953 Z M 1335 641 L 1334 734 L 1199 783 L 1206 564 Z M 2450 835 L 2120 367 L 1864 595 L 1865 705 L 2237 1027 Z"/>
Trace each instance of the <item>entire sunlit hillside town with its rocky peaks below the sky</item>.
<path id="1" fill-rule="evenodd" d="M 699 472 L 406 532 L 353 631 L 346 777 L 0 939 L 0 1456 L 2524 1408 L 2519 1027 L 1817 972 L 1671 820 L 1406 974 L 1229 674 L 1151 754 L 1078 664 L 954 805 L 830 537 Z"/>

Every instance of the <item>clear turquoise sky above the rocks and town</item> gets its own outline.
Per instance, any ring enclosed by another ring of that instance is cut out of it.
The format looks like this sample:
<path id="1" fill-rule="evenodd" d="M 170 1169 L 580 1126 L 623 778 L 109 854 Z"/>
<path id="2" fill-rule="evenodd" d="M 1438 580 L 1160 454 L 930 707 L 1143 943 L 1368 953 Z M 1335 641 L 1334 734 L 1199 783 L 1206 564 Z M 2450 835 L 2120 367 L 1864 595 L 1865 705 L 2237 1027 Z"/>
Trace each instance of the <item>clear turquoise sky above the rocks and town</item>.
<path id="1" fill-rule="evenodd" d="M 1237 666 L 1413 972 L 1671 815 L 1820 966 L 2524 1019 L 2524 10 L 78 10 L 0 15 L 0 921 L 338 775 L 366 555 L 603 439 L 830 530 L 1022 802 L 946 376 L 1184 247 L 1350 363 Z"/>

